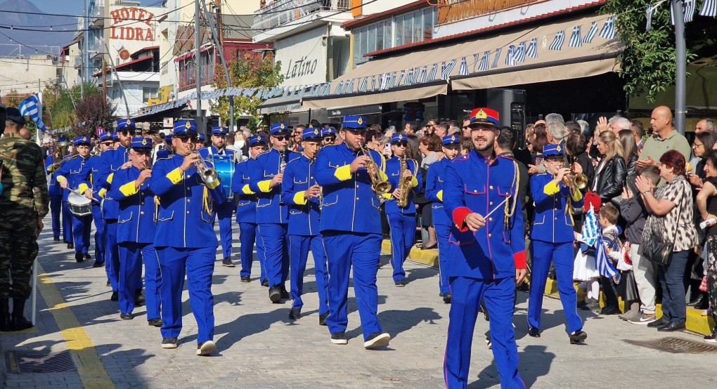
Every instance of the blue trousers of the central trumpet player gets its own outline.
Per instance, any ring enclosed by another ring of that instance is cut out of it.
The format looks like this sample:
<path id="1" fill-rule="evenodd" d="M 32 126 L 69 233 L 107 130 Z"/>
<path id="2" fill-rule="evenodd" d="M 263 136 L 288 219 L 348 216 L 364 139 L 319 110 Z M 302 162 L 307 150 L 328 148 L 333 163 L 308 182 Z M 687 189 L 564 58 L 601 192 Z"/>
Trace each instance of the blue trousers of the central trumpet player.
<path id="1" fill-rule="evenodd" d="M 361 317 L 364 340 L 374 332 L 383 332 L 377 312 L 381 234 L 359 234 L 347 231 L 324 231 L 323 246 L 328 258 L 328 307 L 326 319 L 332 334 L 346 332 L 348 325 L 348 273 L 353 266 L 353 290 Z"/>

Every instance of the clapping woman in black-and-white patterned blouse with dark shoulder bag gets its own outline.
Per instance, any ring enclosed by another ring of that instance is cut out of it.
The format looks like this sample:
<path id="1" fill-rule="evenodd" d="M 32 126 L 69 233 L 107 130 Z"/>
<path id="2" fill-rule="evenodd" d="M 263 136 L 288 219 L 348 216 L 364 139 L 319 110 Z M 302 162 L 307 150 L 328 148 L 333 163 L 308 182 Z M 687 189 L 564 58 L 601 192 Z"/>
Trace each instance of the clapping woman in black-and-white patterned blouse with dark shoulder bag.
<path id="1" fill-rule="evenodd" d="M 685 157 L 677 150 L 670 150 L 660 157 L 660 177 L 666 183 L 654 193 L 650 183 L 642 176 L 635 179 L 642 201 L 649 216 L 642 241 L 659 239 L 661 243 L 673 242 L 672 260 L 657 266 L 657 275 L 663 288 L 663 317 L 647 327 L 659 331 L 676 331 L 685 328 L 687 304 L 685 269 L 690 251 L 697 244 L 697 231 L 693 224 L 692 188 L 685 178 Z M 639 254 L 644 255 L 646 244 L 640 245 Z"/>

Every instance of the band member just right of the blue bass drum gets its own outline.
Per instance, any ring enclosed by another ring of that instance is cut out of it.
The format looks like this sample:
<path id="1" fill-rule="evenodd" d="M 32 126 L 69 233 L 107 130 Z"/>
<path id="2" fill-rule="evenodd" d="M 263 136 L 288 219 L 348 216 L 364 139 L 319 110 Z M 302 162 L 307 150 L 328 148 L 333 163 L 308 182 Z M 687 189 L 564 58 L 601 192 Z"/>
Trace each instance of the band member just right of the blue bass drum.
<path id="1" fill-rule="evenodd" d="M 265 152 L 267 138 L 263 135 L 252 136 L 248 140 L 248 145 L 250 157 L 237 164 L 237 170 L 234 171 L 234 177 L 232 177 L 232 191 L 239 200 L 237 202 L 237 223 L 239 224 L 239 255 L 242 257 L 239 279 L 241 282 L 252 281 L 252 261 L 256 242 L 260 266 L 259 280 L 262 286 L 268 287 L 269 281 L 266 278 L 264 264 L 264 244 L 262 239 L 257 239 L 257 195 L 249 188 L 254 164 L 257 163 L 257 156 Z"/>

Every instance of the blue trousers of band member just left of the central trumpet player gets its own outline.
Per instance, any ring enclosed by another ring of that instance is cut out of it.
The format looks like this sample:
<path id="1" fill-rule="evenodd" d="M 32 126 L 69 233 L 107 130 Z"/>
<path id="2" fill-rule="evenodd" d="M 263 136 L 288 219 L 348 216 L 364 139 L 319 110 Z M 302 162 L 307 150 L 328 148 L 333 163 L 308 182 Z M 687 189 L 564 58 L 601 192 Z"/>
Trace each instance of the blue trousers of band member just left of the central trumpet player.
<path id="1" fill-rule="evenodd" d="M 294 300 L 292 308 L 301 309 L 304 302 L 301 300 L 304 287 L 304 272 L 308 261 L 309 249 L 314 258 L 314 275 L 316 276 L 316 291 L 318 292 L 318 313 L 328 312 L 328 272 L 326 270 L 326 249 L 323 247 L 323 236 L 289 235 L 289 256 L 291 263 L 291 298 Z"/>

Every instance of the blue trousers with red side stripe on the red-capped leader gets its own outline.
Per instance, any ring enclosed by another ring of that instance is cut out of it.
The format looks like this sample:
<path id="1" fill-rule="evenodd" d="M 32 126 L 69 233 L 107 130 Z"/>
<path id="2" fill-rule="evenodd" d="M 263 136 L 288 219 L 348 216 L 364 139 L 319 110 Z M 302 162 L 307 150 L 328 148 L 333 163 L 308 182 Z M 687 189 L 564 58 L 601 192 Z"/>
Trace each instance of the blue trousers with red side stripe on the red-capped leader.
<path id="1" fill-rule="evenodd" d="M 513 299 L 516 280 L 450 277 L 450 321 L 443 364 L 448 389 L 466 388 L 470 367 L 470 345 L 480 301 L 490 314 L 490 341 L 501 388 L 525 388 L 518 373 L 518 346 L 513 329 Z"/>

